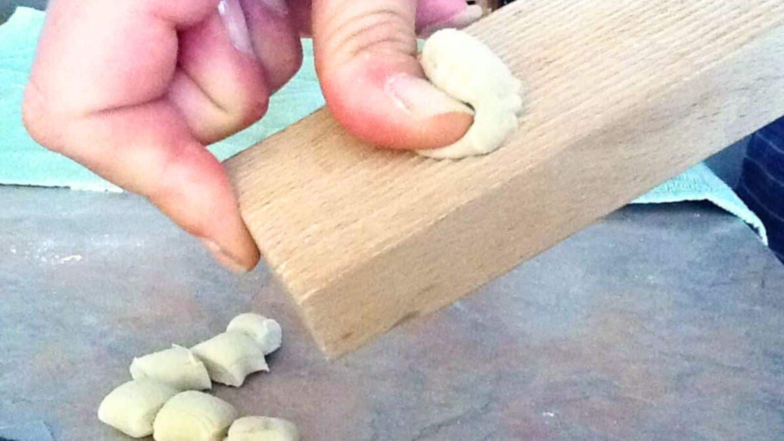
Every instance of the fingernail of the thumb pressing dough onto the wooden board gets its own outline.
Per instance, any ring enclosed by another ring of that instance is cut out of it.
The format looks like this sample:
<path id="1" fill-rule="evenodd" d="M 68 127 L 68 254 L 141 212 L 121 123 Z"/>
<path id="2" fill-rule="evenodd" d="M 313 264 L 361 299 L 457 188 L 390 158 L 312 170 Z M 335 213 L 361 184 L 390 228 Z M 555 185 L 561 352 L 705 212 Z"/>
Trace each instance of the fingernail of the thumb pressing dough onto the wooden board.
<path id="1" fill-rule="evenodd" d="M 466 104 L 448 96 L 426 79 L 414 75 L 393 75 L 387 79 L 385 89 L 398 106 L 415 118 L 426 119 L 453 112 L 474 115 Z"/>

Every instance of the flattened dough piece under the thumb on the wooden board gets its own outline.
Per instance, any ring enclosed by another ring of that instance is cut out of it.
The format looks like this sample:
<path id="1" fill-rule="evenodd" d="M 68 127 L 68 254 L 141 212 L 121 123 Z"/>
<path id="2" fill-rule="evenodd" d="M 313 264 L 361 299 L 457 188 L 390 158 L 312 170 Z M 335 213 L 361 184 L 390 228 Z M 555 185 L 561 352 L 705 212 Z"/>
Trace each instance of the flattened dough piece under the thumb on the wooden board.
<path id="1" fill-rule="evenodd" d="M 522 83 L 482 42 L 456 29 L 437 31 L 425 42 L 419 60 L 434 86 L 474 108 L 474 124 L 455 144 L 419 150 L 419 155 L 485 155 L 500 148 L 517 129 Z"/>

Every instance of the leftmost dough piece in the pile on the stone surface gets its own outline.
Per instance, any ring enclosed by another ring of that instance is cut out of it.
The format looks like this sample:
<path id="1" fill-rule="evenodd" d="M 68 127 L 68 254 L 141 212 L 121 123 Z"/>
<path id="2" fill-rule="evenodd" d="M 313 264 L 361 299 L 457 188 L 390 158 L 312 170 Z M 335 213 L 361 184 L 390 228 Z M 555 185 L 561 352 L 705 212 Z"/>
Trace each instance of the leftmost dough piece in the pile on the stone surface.
<path id="1" fill-rule="evenodd" d="M 180 391 L 158 381 L 129 381 L 106 395 L 98 407 L 98 419 L 127 436 L 149 436 L 155 414 L 177 392 Z"/>

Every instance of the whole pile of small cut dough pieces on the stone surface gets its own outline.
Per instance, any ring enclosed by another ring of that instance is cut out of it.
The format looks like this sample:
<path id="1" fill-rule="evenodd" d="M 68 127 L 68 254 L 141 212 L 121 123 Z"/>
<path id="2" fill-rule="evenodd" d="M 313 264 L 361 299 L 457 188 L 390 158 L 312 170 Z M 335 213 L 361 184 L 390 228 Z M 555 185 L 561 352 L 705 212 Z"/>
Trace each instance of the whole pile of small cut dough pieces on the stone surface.
<path id="1" fill-rule="evenodd" d="M 172 348 L 133 359 L 131 381 L 98 408 L 100 421 L 127 436 L 155 441 L 299 441 L 291 421 L 241 417 L 234 406 L 201 392 L 212 381 L 240 387 L 267 371 L 265 356 L 281 347 L 281 326 L 258 314 L 241 314 L 226 331 L 193 348 Z"/>

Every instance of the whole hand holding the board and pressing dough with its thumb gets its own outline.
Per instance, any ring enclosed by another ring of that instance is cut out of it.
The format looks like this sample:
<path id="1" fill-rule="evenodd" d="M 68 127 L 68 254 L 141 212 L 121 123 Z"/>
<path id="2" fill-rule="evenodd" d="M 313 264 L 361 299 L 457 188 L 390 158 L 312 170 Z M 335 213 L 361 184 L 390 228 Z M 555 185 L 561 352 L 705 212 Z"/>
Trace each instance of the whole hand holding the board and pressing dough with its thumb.
<path id="1" fill-rule="evenodd" d="M 389 148 L 438 148 L 471 123 L 423 79 L 416 31 L 478 17 L 463 0 L 54 0 L 25 91 L 40 144 L 144 195 L 228 268 L 256 265 L 205 145 L 256 122 L 314 36 L 328 107 Z"/>

